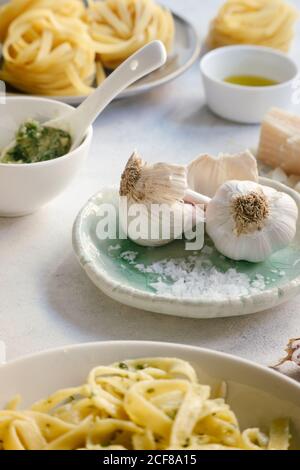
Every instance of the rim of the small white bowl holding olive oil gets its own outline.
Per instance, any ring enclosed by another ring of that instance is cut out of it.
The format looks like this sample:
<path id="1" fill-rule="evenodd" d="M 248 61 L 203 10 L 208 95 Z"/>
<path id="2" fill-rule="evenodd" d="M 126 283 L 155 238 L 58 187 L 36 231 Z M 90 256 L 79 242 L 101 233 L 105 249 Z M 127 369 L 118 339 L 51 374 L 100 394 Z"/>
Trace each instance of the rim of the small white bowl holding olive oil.
<path id="1" fill-rule="evenodd" d="M 282 61 L 285 61 L 286 63 L 288 62 L 291 66 L 294 67 L 295 74 L 293 78 L 289 80 L 285 80 L 281 83 L 278 83 L 276 85 L 272 85 L 270 87 L 265 87 L 265 86 L 247 86 L 247 85 L 238 85 L 238 84 L 233 84 L 233 83 L 227 83 L 222 80 L 219 80 L 215 76 L 207 73 L 207 70 L 205 69 L 206 61 L 211 59 L 213 56 L 218 56 L 221 54 L 226 54 L 234 51 L 257 51 L 257 52 L 263 52 L 265 54 L 277 56 L 282 59 Z M 234 46 L 225 46 L 225 47 L 219 47 L 218 49 L 214 49 L 207 54 L 205 54 L 201 60 L 200 60 L 200 70 L 202 74 L 208 78 L 209 80 L 213 81 L 214 83 L 218 85 L 224 86 L 224 88 L 230 88 L 230 89 L 243 89 L 243 90 L 252 90 L 252 91 L 261 91 L 261 90 L 278 90 L 280 88 L 286 87 L 289 84 L 292 84 L 294 80 L 297 78 L 299 74 L 299 68 L 296 64 L 296 62 L 289 57 L 287 54 L 284 54 L 281 51 L 277 51 L 276 49 L 272 49 L 271 47 L 263 47 L 263 46 L 251 46 L 251 45 L 234 45 Z"/>

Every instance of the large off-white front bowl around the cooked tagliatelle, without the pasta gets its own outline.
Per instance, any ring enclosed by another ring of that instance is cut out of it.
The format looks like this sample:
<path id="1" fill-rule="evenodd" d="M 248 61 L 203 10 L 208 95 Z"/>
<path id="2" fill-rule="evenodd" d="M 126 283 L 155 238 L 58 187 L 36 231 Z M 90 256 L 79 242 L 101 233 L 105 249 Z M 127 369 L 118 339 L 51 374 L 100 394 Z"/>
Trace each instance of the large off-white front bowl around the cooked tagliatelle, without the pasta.
<path id="1" fill-rule="evenodd" d="M 265 427 L 290 417 L 294 446 L 300 448 L 300 385 L 272 370 L 224 353 L 178 344 L 147 341 L 90 343 L 43 352 L 0 366 L 0 407 L 21 393 L 22 405 L 59 388 L 84 383 L 93 367 L 142 357 L 178 357 L 192 363 L 202 383 L 225 380 L 228 403 L 242 428 Z M 47 371 L 44 374 L 42 371 Z"/>

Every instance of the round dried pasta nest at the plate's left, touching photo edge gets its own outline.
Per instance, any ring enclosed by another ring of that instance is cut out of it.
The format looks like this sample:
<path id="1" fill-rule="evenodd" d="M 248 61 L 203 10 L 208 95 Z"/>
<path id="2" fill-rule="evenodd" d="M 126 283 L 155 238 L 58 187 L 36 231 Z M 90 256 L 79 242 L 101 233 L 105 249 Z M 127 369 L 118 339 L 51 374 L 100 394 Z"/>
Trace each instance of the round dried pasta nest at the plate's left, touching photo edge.
<path id="1" fill-rule="evenodd" d="M 29 10 L 10 25 L 0 79 L 27 93 L 87 94 L 95 77 L 95 50 L 78 18 Z"/>

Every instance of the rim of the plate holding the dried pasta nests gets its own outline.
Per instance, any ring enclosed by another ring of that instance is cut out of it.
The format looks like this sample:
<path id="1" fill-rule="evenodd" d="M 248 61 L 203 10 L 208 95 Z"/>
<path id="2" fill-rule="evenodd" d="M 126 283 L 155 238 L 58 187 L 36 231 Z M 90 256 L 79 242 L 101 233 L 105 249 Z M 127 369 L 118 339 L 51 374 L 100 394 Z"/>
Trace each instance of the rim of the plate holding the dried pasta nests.
<path id="1" fill-rule="evenodd" d="M 194 36 L 194 41 L 195 41 L 195 48 L 194 48 L 193 54 L 191 55 L 189 60 L 187 60 L 185 62 L 185 64 L 178 67 L 177 70 L 175 70 L 174 72 L 166 75 L 163 78 L 158 78 L 156 80 L 153 80 L 149 83 L 145 83 L 143 85 L 132 85 L 127 90 L 125 90 L 123 93 L 121 93 L 120 96 L 117 97 L 117 99 L 129 98 L 131 96 L 134 96 L 134 95 L 137 95 L 137 94 L 142 94 L 142 93 L 145 93 L 147 91 L 150 91 L 153 88 L 156 88 L 158 86 L 165 85 L 166 83 L 169 83 L 170 81 L 174 80 L 175 78 L 177 78 L 180 75 L 182 75 L 183 73 L 185 73 L 198 59 L 198 57 L 200 55 L 200 52 L 201 52 L 201 38 L 200 38 L 195 26 L 193 25 L 193 23 L 191 23 L 189 20 L 187 20 L 184 16 L 179 15 L 179 14 L 175 13 L 174 11 L 172 11 L 172 15 L 174 16 L 175 20 L 177 19 L 177 21 L 180 21 L 180 22 L 184 23 L 185 26 L 187 28 L 189 28 L 190 31 L 192 32 L 192 34 Z M 1 58 L 1 54 L 0 54 L 0 58 Z M 10 96 L 10 97 L 28 96 L 28 97 L 43 98 L 42 95 L 27 95 L 26 93 L 23 94 L 21 92 L 20 92 L 20 94 L 18 94 L 18 93 L 8 93 L 7 96 Z M 75 104 L 75 103 L 80 103 L 81 101 L 83 101 L 86 98 L 86 95 L 53 96 L 53 97 L 48 96 L 47 98 L 50 99 L 50 100 L 61 101 L 61 102 L 69 103 L 69 104 L 72 102 L 73 104 Z"/>

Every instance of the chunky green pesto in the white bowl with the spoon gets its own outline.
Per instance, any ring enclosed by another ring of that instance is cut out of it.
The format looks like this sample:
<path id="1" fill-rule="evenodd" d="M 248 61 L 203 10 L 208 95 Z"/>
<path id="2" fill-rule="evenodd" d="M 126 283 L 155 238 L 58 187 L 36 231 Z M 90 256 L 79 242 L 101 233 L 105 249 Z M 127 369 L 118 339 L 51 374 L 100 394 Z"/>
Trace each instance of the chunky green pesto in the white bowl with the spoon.
<path id="1" fill-rule="evenodd" d="M 37 121 L 25 122 L 17 132 L 16 144 L 1 163 L 36 163 L 62 157 L 71 148 L 71 136 L 62 129 L 44 127 Z"/>

